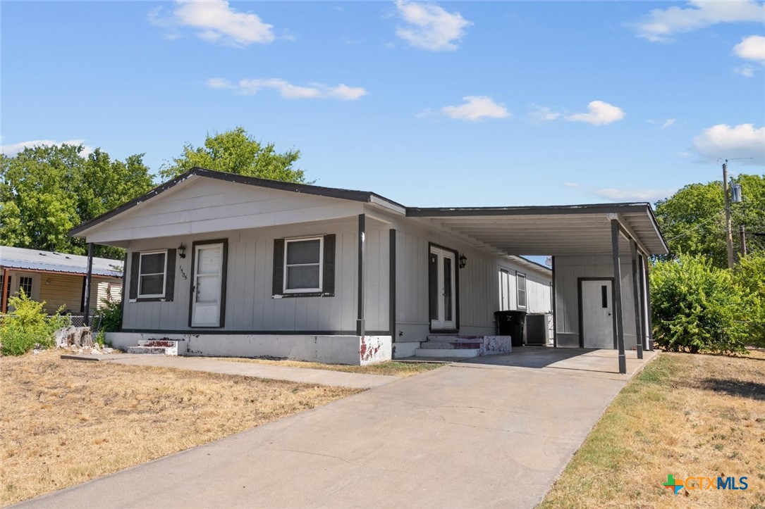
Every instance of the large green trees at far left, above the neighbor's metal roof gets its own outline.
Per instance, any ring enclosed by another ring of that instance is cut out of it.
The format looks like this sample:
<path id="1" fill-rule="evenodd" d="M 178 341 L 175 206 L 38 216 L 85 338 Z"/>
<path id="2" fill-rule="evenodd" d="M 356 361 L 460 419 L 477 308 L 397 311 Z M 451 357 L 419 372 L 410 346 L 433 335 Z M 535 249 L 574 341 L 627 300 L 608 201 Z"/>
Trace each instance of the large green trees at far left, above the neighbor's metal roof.
<path id="1" fill-rule="evenodd" d="M 82 145 L 26 148 L 0 156 L 0 245 L 84 254 L 69 229 L 151 190 L 142 154 L 111 160 Z M 96 245 L 96 256 L 122 258 L 122 250 Z"/>

